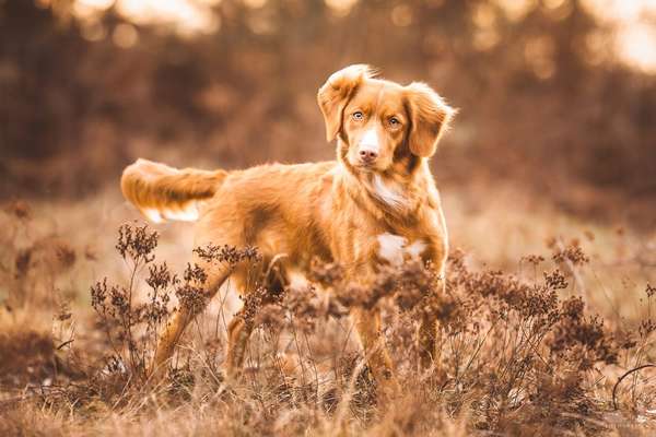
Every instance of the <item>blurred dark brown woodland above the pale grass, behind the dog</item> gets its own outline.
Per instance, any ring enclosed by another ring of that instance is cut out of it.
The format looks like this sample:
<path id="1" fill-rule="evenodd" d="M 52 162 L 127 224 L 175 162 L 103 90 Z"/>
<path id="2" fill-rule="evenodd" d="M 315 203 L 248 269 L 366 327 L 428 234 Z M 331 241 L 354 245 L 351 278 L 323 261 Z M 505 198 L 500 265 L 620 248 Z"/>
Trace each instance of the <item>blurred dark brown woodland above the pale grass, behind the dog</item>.
<path id="1" fill-rule="evenodd" d="M 460 109 L 443 190 L 656 223 L 655 0 L 0 0 L 0 197 L 332 158 L 315 93 L 352 62 Z"/>

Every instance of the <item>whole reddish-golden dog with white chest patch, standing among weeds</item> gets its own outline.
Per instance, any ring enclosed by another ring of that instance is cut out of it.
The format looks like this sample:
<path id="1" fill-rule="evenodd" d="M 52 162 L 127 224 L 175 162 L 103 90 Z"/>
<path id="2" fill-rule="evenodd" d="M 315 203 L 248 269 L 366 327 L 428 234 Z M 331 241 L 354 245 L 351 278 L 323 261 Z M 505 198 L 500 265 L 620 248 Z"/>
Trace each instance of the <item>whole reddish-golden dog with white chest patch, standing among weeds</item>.
<path id="1" fill-rule="evenodd" d="M 124 172 L 122 192 L 153 221 L 196 220 L 195 247 L 256 246 L 265 264 L 284 253 L 285 271 L 303 272 L 318 258 L 339 263 L 366 287 L 382 265 L 420 258 L 444 274 L 448 238 L 429 160 L 454 110 L 427 85 L 376 79 L 363 64 L 330 75 L 317 101 L 327 140 L 337 139 L 336 161 L 204 172 L 138 160 Z M 194 262 L 209 269 L 208 298 L 229 276 L 244 284 L 238 265 L 210 265 L 198 256 Z M 195 311 L 179 308 L 165 327 L 155 370 L 166 366 Z M 379 311 L 353 310 L 352 317 L 380 394 L 396 393 Z M 229 326 L 229 380 L 242 369 L 249 324 L 235 317 Z M 425 366 L 435 335 L 435 320 L 421 320 Z"/>

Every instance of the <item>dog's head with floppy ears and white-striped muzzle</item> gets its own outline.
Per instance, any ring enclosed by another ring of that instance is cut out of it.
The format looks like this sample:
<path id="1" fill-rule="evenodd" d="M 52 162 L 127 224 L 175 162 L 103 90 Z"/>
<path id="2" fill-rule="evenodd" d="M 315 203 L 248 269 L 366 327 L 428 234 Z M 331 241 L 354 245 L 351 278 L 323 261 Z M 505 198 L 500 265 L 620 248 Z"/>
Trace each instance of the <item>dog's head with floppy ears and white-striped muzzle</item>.
<path id="1" fill-rule="evenodd" d="M 375 79 L 363 64 L 333 73 L 317 101 L 328 141 L 339 135 L 341 158 L 361 172 L 385 172 L 408 154 L 432 156 L 455 113 L 427 85 Z"/>

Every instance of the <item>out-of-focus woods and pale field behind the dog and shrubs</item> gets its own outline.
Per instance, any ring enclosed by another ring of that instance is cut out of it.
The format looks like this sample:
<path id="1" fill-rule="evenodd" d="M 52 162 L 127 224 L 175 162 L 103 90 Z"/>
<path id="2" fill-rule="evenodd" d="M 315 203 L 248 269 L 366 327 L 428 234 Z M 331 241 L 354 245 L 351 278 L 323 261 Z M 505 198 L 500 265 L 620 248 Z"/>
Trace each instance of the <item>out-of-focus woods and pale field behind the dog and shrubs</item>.
<path id="1" fill-rule="evenodd" d="M 316 92 L 354 62 L 459 108 L 432 160 L 454 251 L 530 281 L 558 267 L 563 293 L 637 326 L 656 284 L 656 0 L 0 0 L 0 304 L 37 303 L 22 314 L 46 331 L 61 302 L 92 320 L 90 284 L 128 280 L 117 228 L 143 217 L 118 181 L 137 157 L 333 158 Z M 183 271 L 192 226 L 151 228 Z M 589 264 L 559 262 L 565 247 Z"/>

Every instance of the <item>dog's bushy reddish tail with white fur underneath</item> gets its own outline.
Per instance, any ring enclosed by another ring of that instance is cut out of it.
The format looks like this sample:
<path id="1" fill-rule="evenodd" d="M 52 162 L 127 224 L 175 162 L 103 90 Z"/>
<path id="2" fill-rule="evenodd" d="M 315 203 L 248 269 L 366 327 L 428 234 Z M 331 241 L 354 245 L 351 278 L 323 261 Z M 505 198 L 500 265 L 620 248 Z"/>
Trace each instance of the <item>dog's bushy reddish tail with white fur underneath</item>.
<path id="1" fill-rule="evenodd" d="M 198 218 L 198 202 L 213 197 L 226 176 L 225 170 L 177 169 L 140 158 L 124 170 L 120 189 L 154 223 L 192 222 Z"/>

